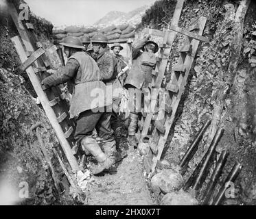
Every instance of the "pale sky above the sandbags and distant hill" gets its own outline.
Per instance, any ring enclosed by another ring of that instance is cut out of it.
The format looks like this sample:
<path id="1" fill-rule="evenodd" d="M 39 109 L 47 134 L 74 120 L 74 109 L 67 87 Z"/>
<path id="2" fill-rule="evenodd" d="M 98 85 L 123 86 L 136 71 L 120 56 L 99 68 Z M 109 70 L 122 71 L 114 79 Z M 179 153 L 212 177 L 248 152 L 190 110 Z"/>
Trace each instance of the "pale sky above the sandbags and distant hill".
<path id="1" fill-rule="evenodd" d="M 93 25 L 110 11 L 130 12 L 156 0 L 25 0 L 37 16 L 60 25 Z"/>

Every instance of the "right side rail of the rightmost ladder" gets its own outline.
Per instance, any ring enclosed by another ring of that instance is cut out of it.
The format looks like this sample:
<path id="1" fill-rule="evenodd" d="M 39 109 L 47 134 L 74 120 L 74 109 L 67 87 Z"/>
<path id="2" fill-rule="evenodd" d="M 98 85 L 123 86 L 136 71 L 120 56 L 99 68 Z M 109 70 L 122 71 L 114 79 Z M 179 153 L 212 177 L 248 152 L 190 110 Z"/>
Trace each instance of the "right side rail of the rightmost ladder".
<path id="1" fill-rule="evenodd" d="M 202 35 L 202 32 L 205 28 L 205 24 L 206 24 L 207 18 L 205 17 L 201 17 L 198 20 L 198 23 L 200 23 L 200 29 L 198 31 L 198 35 Z M 175 114 L 176 114 L 176 110 L 178 108 L 178 104 L 179 101 L 181 99 L 181 95 L 183 94 L 184 90 L 185 90 L 185 85 L 187 83 L 187 77 L 189 76 L 189 72 L 191 69 L 191 66 L 194 62 L 194 57 L 196 55 L 196 51 L 198 49 L 198 44 L 200 41 L 193 39 L 191 40 L 191 45 L 192 45 L 192 52 L 191 53 L 187 53 L 186 59 L 185 59 L 185 66 L 186 66 L 186 72 L 184 77 L 179 77 L 178 78 L 178 86 L 179 86 L 179 91 L 178 94 L 176 96 L 176 101 L 174 101 L 172 103 L 172 114 L 171 115 L 167 115 L 167 118 L 165 120 L 165 134 L 160 134 L 159 136 L 159 142 L 158 142 L 158 153 L 157 155 L 154 155 L 153 159 L 152 159 L 152 168 L 151 171 L 154 172 L 155 168 L 156 168 L 156 163 L 157 161 L 161 158 L 161 155 L 163 153 L 163 148 L 165 146 L 165 142 L 167 140 L 167 136 L 169 135 L 169 131 L 170 128 L 172 127 L 172 123 L 174 121 L 175 118 Z"/>

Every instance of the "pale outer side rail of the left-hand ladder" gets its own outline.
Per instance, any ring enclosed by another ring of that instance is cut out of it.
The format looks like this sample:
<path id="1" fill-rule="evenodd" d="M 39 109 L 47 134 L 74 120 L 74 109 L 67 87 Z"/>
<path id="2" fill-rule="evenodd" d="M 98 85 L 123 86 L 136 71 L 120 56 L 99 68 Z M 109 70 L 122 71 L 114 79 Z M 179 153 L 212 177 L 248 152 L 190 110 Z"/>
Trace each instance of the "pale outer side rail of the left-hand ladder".
<path id="1" fill-rule="evenodd" d="M 15 36 L 11 40 L 12 40 L 12 43 L 14 44 L 14 47 L 21 59 L 21 62 L 25 62 L 27 60 L 27 56 L 25 54 L 25 51 L 23 49 L 23 46 L 21 44 L 21 40 L 20 40 L 19 36 Z M 69 142 L 67 142 L 67 139 L 64 136 L 62 127 L 60 127 L 60 124 L 58 123 L 55 112 L 49 106 L 49 101 L 47 99 L 45 92 L 43 92 L 43 89 L 40 84 L 40 81 L 38 80 L 38 77 L 34 73 L 33 68 L 31 66 L 26 69 L 26 72 L 27 72 L 28 77 L 30 77 L 30 81 L 32 83 L 32 86 L 34 87 L 34 90 L 36 91 L 36 94 L 38 95 L 40 103 L 43 106 L 43 109 L 45 110 L 45 114 L 49 118 L 49 122 L 51 123 L 52 127 L 54 127 L 56 136 L 57 136 L 58 140 L 60 141 L 60 145 L 62 146 L 62 149 L 67 157 L 67 160 L 69 161 L 69 164 L 70 164 L 72 170 L 74 170 L 74 171 L 80 170 L 79 166 L 78 166 L 78 162 L 76 161 L 75 157 L 73 156 L 71 147 L 69 146 Z"/>

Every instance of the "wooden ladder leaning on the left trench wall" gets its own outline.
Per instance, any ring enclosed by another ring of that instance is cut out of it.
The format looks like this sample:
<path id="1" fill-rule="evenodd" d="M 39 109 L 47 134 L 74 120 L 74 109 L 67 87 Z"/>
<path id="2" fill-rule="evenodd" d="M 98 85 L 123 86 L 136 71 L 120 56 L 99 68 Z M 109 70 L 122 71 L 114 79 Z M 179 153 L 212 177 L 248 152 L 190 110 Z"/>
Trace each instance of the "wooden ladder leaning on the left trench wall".
<path id="1" fill-rule="evenodd" d="M 19 20 L 19 15 L 12 3 L 8 3 L 8 10 L 12 16 L 12 21 L 19 32 L 19 36 L 12 38 L 12 43 L 21 59 L 21 70 L 25 70 L 32 82 L 32 86 L 38 95 L 43 109 L 49 122 L 51 123 L 56 136 L 62 146 L 67 160 L 74 171 L 79 170 L 75 154 L 75 140 L 73 132 L 75 123 L 69 119 L 69 105 L 62 96 L 60 88 L 51 88 L 51 90 L 43 91 L 40 81 L 49 76 L 46 70 L 50 69 L 47 51 L 43 49 L 43 45 L 36 40 L 31 23 L 23 23 Z M 48 52 L 56 51 L 56 47 L 51 47 Z"/>

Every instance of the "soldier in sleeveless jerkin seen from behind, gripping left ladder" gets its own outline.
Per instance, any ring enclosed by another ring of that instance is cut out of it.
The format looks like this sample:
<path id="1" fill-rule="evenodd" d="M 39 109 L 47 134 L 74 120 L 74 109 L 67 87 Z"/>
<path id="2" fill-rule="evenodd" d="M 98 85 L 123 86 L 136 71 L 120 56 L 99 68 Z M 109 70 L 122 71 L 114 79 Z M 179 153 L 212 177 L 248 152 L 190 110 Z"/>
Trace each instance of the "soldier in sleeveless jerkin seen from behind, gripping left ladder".
<path id="1" fill-rule="evenodd" d="M 93 174 L 98 174 L 115 163 L 116 148 L 113 130 L 110 128 L 111 114 L 100 110 L 110 103 L 106 103 L 106 99 L 95 103 L 95 97 L 91 95 L 94 88 L 100 88 L 106 97 L 106 85 L 101 81 L 102 76 L 96 62 L 82 51 L 84 47 L 79 38 L 68 36 L 61 44 L 69 58 L 67 64 L 61 72 L 43 79 L 43 88 L 58 86 L 67 81 L 75 84 L 70 107 L 70 118 L 76 120 L 74 138 L 97 159 L 99 166 L 93 168 Z M 92 136 L 94 128 L 102 138 L 104 153 Z"/>

